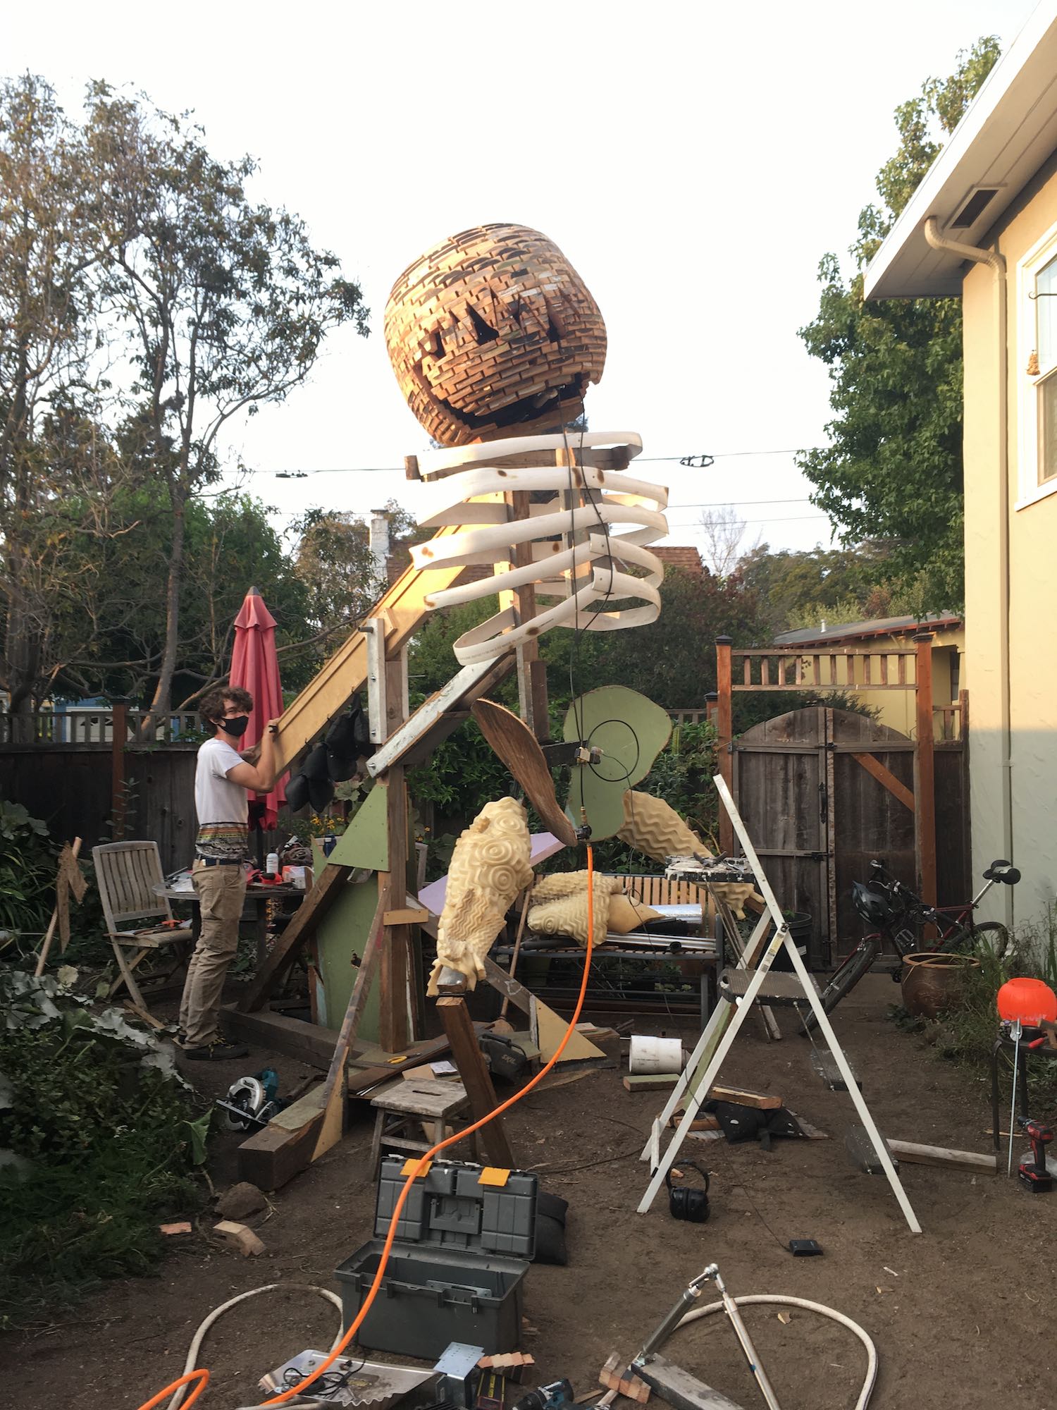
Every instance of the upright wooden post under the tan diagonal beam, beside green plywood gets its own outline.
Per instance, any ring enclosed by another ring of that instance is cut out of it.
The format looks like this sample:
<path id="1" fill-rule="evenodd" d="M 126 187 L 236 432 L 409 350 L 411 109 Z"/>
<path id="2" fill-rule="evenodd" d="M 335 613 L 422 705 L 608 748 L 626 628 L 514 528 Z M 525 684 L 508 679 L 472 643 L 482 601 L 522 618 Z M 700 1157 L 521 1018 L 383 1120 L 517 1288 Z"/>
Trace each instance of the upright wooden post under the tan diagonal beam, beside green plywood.
<path id="1" fill-rule="evenodd" d="M 404 660 L 386 661 L 386 737 L 403 725 Z M 382 784 L 386 788 L 386 828 L 389 832 L 389 871 L 378 873 L 379 897 L 388 891 L 390 911 L 407 905 L 407 787 L 403 764 L 393 764 Z M 378 984 L 378 1042 L 390 1053 L 403 1052 L 410 1041 L 407 1029 L 407 953 L 410 935 L 406 925 L 386 926 Z"/>

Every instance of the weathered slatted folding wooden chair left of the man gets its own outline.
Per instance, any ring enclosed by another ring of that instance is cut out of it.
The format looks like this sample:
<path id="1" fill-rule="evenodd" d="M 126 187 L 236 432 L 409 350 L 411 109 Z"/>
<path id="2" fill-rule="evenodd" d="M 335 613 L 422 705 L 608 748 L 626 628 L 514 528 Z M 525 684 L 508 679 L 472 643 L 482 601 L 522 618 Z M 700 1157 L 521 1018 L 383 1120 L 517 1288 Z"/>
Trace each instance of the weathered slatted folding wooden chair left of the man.
<path id="1" fill-rule="evenodd" d="M 110 842 L 92 849 L 96 884 L 103 902 L 107 936 L 114 948 L 120 979 L 110 986 L 113 995 L 123 984 L 132 1003 L 147 1008 L 147 1003 L 132 973 L 148 955 L 175 945 L 178 955 L 162 983 L 187 963 L 186 946 L 193 939 L 190 922 L 173 924 L 172 907 L 165 895 L 165 876 L 156 842 Z M 137 929 L 121 929 L 138 921 Z M 145 924 L 154 921 L 154 925 Z M 168 924 L 166 924 L 168 922 Z"/>

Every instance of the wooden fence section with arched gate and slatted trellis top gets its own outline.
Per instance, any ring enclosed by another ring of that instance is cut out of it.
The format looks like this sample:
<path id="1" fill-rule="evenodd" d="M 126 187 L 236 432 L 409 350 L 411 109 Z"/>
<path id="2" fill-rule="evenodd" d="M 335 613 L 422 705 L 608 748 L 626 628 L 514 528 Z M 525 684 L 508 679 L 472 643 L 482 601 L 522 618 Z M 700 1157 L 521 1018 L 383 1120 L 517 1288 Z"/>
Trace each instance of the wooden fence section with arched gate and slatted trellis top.
<path id="1" fill-rule="evenodd" d="M 734 650 L 729 637 L 716 643 L 720 771 L 779 901 L 816 922 L 816 966 L 834 946 L 843 955 L 843 942 L 854 945 L 861 926 L 850 888 L 867 878 L 874 857 L 932 904 L 968 895 L 968 695 L 934 711 L 932 640 L 919 633 L 912 650 L 827 651 Z M 796 689 L 912 691 L 916 737 L 824 705 L 733 737 L 736 692 Z M 726 815 L 720 846 L 733 849 Z"/>

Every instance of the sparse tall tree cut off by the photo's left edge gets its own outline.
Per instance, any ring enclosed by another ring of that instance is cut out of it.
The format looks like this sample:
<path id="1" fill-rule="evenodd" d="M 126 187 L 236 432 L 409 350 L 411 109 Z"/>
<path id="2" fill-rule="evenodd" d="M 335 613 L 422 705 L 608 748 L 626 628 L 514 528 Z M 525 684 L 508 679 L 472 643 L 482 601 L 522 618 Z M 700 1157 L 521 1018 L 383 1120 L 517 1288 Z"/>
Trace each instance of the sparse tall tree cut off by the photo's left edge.
<path id="1" fill-rule="evenodd" d="M 83 142 L 52 89 L 32 75 L 0 83 L 0 685 L 23 722 L 54 666 L 55 556 L 41 516 L 109 474 L 107 447 L 70 434 L 75 392 L 90 400 L 86 197 Z"/>

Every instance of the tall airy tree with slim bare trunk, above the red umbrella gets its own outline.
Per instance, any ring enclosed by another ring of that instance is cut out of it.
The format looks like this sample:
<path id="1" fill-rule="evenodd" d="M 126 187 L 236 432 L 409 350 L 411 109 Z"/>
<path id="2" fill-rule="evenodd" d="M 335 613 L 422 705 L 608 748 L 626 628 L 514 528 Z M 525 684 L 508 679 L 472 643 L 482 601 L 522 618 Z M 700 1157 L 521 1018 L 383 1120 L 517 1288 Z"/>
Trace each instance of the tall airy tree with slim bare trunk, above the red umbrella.
<path id="1" fill-rule="evenodd" d="M 249 200 L 255 162 L 211 157 L 186 116 L 97 83 L 86 144 L 101 298 L 134 367 L 125 441 L 172 519 L 158 716 L 178 668 L 187 506 L 218 478 L 224 426 L 283 400 L 328 330 L 351 320 L 366 334 L 366 309 L 299 217 Z"/>

